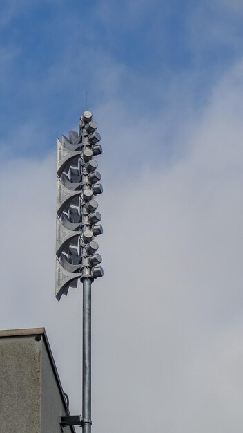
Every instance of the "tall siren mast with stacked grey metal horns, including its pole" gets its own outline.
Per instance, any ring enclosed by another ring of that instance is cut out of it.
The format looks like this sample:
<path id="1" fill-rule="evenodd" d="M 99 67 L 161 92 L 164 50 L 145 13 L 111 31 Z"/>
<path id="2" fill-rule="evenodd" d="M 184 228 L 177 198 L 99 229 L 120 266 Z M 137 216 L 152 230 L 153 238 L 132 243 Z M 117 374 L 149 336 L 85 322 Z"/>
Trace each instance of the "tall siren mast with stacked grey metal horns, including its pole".
<path id="1" fill-rule="evenodd" d="M 56 297 L 83 284 L 82 415 L 64 416 L 61 425 L 81 425 L 91 432 L 91 284 L 103 276 L 98 243 L 101 214 L 93 198 L 103 192 L 95 156 L 102 153 L 97 123 L 91 111 L 80 118 L 79 133 L 57 140 Z"/>

